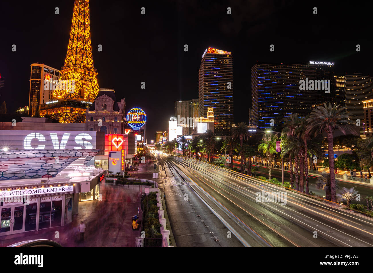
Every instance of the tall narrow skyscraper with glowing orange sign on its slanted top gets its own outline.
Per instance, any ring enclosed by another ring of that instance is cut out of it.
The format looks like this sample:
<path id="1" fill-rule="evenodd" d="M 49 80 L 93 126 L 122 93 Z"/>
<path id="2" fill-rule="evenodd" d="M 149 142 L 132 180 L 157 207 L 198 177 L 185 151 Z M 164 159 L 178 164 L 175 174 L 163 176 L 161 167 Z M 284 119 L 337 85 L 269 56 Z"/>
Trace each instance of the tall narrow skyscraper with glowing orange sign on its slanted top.
<path id="1" fill-rule="evenodd" d="M 207 117 L 207 107 L 214 108 L 214 132 L 229 135 L 233 123 L 232 53 L 209 47 L 202 55 L 198 73 L 200 116 Z"/>

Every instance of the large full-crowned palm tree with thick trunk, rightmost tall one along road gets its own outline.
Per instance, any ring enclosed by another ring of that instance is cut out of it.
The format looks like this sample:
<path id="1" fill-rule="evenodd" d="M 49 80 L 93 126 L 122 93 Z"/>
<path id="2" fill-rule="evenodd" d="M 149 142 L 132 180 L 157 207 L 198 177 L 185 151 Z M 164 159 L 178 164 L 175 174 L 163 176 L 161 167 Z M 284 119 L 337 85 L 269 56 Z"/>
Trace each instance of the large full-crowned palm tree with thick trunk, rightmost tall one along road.
<path id="1" fill-rule="evenodd" d="M 345 113 L 345 107 L 339 107 L 339 105 L 334 104 L 333 106 L 329 103 L 323 106 L 317 106 L 313 109 L 310 117 L 307 119 L 308 127 L 307 132 L 315 132 L 314 136 L 317 134 L 322 134 L 326 132 L 327 135 L 327 146 L 328 154 L 334 154 L 333 148 L 333 133 L 335 129 L 341 131 L 344 135 L 346 131 L 357 135 L 354 130 L 354 126 L 349 123 L 349 118 Z M 335 174 L 334 174 L 334 157 L 329 156 L 329 173 L 330 173 L 330 194 L 333 202 L 336 201 L 336 185 L 335 185 Z"/>

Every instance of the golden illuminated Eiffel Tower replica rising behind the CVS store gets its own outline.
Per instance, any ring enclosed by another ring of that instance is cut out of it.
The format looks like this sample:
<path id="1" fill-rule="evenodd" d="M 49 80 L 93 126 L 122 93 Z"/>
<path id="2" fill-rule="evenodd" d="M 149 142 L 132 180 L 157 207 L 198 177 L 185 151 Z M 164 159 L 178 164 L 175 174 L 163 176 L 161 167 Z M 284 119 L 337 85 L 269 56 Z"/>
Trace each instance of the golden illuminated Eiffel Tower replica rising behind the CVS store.
<path id="1" fill-rule="evenodd" d="M 59 85 L 51 91 L 52 100 L 40 106 L 40 116 L 48 114 L 60 123 L 85 123 L 86 109 L 99 91 L 92 57 L 89 0 L 75 0 L 68 52 L 60 73 Z"/>

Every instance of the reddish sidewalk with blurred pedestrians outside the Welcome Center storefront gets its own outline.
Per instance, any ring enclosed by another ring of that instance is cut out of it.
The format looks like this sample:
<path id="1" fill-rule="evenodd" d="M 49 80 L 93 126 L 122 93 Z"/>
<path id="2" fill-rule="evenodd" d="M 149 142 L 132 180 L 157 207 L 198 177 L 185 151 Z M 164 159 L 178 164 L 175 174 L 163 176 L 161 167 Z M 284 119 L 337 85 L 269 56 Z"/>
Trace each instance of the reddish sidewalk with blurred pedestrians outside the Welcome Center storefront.
<path id="1" fill-rule="evenodd" d="M 103 200 L 80 202 L 79 214 L 73 215 L 73 222 L 69 225 L 1 236 L 0 246 L 33 239 L 50 239 L 63 247 L 135 247 L 135 237 L 140 236 L 141 230 L 132 230 L 132 216 L 140 207 L 141 192 L 131 187 L 105 183 L 100 186 Z M 78 226 L 81 220 L 84 220 L 87 229 L 84 242 L 79 243 Z M 56 238 L 56 232 L 59 238 Z"/>

